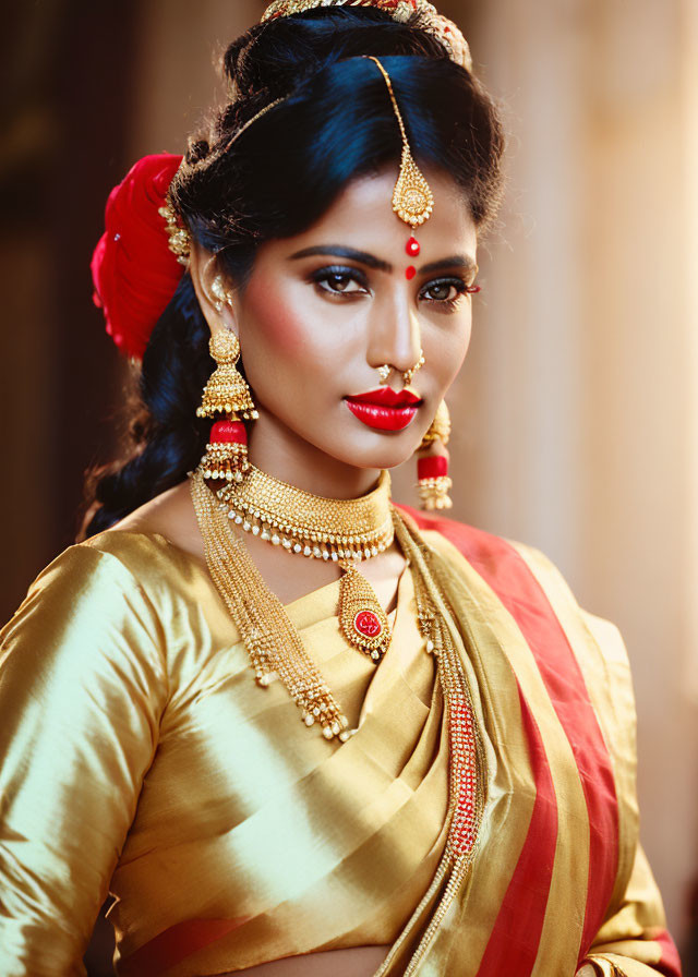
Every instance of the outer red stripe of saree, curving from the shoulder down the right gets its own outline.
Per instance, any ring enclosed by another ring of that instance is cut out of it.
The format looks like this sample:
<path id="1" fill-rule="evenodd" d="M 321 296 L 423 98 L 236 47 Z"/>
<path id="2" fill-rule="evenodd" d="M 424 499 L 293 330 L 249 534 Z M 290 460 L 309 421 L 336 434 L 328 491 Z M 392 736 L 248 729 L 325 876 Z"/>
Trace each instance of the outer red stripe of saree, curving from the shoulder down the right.
<path id="1" fill-rule="evenodd" d="M 579 948 L 581 962 L 611 902 L 618 867 L 618 803 L 603 733 L 567 636 L 542 587 L 506 540 L 450 519 L 400 506 L 422 530 L 453 543 L 494 591 L 531 649 L 575 757 L 589 818 L 589 882 Z M 510 934 L 509 934 L 510 939 Z"/>

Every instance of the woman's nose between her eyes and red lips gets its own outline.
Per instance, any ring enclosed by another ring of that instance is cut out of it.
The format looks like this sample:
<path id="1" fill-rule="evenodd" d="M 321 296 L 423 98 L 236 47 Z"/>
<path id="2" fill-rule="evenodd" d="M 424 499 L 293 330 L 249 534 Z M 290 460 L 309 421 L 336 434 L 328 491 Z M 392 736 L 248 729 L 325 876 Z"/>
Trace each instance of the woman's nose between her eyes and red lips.
<path id="1" fill-rule="evenodd" d="M 370 366 L 388 365 L 396 373 L 407 373 L 419 360 L 420 338 L 419 317 L 404 289 L 397 287 L 373 303 L 366 347 Z M 389 376 L 393 381 L 393 373 Z"/>

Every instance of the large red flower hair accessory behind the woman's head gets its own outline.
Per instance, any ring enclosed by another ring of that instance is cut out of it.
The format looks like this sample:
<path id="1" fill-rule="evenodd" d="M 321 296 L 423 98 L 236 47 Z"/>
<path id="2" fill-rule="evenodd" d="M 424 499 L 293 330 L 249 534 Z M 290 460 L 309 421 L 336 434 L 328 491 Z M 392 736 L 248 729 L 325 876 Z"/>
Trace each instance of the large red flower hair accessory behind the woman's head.
<path id="1" fill-rule="evenodd" d="M 181 161 L 159 153 L 129 170 L 109 194 L 106 231 L 92 257 L 94 301 L 107 333 L 121 352 L 139 360 L 183 274 L 158 213 Z"/>

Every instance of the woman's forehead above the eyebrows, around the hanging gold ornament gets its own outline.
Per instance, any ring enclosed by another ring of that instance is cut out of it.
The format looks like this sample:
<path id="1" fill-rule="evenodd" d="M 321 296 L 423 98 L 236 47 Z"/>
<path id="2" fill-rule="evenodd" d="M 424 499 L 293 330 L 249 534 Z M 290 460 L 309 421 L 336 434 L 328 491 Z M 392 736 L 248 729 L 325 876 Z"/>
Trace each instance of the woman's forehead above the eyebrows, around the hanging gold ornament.
<path id="1" fill-rule="evenodd" d="M 436 258 L 442 252 L 458 252 L 474 258 L 477 229 L 465 192 L 441 170 L 425 169 L 424 176 L 434 194 L 434 209 L 416 231 L 422 255 L 429 252 Z M 404 253 L 412 229 L 393 212 L 397 177 L 397 166 L 389 166 L 351 180 L 315 224 L 278 244 L 296 249 L 332 240 L 352 242 L 376 253 Z"/>

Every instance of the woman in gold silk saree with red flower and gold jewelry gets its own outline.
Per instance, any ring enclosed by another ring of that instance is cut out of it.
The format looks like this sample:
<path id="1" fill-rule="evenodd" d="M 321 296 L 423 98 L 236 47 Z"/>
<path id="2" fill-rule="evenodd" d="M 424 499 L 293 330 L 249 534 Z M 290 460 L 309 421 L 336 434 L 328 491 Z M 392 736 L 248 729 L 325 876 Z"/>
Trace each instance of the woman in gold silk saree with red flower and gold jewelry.
<path id="1" fill-rule="evenodd" d="M 145 413 L 3 632 L 2 974 L 81 973 L 111 892 L 127 975 L 677 975 L 616 632 L 389 502 L 419 450 L 448 504 L 501 182 L 467 45 L 291 0 L 225 65 L 95 252 Z"/>

